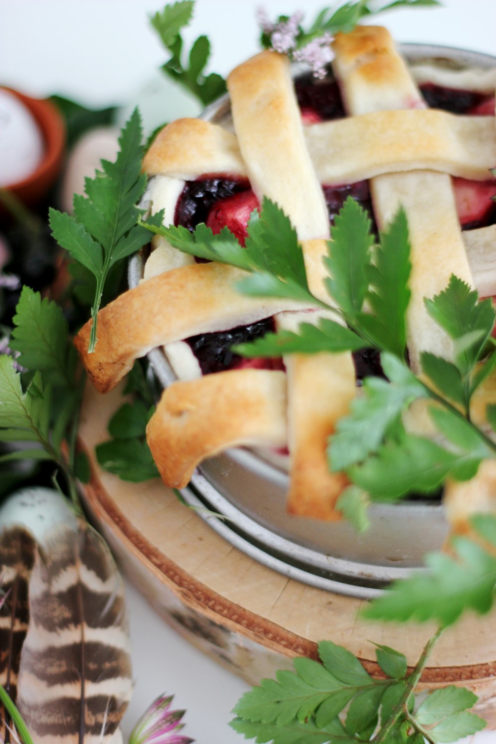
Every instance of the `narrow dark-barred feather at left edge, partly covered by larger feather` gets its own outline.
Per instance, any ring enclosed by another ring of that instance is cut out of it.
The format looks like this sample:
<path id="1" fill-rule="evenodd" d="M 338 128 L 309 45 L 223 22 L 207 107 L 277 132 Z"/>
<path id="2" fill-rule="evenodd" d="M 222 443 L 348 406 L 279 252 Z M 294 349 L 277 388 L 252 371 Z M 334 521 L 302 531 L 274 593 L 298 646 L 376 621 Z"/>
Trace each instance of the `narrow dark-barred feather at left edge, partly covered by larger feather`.
<path id="1" fill-rule="evenodd" d="M 0 684 L 16 702 L 22 644 L 28 630 L 28 584 L 36 555 L 33 536 L 22 527 L 0 529 Z M 11 726 L 0 702 L 0 741 Z"/>

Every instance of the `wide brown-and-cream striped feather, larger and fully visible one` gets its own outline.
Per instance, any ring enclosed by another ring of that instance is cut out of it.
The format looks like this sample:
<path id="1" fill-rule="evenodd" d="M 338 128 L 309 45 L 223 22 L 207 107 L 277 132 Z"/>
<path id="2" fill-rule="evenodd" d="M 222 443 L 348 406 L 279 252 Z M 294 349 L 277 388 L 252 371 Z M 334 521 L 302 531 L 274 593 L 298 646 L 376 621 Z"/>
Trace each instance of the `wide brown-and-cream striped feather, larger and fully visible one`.
<path id="1" fill-rule="evenodd" d="M 34 744 L 115 744 L 132 692 L 123 582 L 85 522 L 36 554 L 17 705 Z"/>

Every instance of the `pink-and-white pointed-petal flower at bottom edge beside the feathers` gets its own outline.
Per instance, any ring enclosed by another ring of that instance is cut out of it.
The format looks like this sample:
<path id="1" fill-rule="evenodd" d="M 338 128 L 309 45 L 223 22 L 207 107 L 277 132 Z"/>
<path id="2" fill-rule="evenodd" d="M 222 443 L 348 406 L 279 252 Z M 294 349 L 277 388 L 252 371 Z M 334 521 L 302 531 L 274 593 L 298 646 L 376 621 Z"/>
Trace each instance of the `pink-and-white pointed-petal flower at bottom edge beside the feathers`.
<path id="1" fill-rule="evenodd" d="M 161 695 L 141 716 L 129 737 L 129 744 L 191 744 L 194 740 L 178 734 L 184 711 L 171 711 L 173 695 Z"/>

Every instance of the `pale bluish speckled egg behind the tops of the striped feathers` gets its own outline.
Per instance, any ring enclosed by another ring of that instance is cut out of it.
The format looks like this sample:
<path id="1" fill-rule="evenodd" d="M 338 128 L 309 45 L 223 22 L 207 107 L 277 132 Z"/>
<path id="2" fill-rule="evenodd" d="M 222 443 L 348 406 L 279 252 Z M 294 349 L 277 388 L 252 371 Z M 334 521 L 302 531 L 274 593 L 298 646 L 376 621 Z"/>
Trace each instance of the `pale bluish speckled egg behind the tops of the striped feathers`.
<path id="1" fill-rule="evenodd" d="M 21 488 L 0 507 L 0 532 L 10 527 L 25 527 L 39 545 L 60 525 L 77 530 L 77 517 L 68 501 L 51 488 Z"/>

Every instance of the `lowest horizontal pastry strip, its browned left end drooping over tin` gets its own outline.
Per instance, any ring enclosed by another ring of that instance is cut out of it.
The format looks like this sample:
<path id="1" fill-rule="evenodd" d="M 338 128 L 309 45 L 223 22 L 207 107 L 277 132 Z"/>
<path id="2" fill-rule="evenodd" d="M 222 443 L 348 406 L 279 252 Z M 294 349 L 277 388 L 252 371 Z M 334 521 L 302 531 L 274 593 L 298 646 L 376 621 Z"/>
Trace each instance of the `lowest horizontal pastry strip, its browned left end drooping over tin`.
<path id="1" fill-rule="evenodd" d="M 187 485 L 204 458 L 228 447 L 285 446 L 286 375 L 245 369 L 173 382 L 146 438 L 164 483 L 175 488 Z"/>

